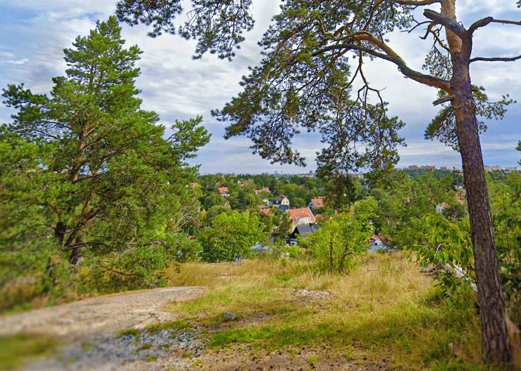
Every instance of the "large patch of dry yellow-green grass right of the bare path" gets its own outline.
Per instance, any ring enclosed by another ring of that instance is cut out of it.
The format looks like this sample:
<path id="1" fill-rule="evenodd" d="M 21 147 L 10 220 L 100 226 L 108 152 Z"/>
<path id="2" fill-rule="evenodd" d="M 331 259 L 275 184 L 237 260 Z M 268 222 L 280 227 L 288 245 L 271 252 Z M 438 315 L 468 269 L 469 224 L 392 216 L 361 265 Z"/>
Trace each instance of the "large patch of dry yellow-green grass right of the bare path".
<path id="1" fill-rule="evenodd" d="M 208 326 L 210 345 L 216 347 L 247 342 L 272 351 L 327 343 L 345 359 L 391 359 L 398 369 L 449 370 L 462 362 L 481 367 L 472 300 L 442 300 L 432 278 L 402 252 L 359 259 L 361 264 L 342 276 L 317 274 L 313 261 L 291 259 L 183 264 L 180 273 L 167 271 L 169 284 L 208 290 L 199 299 L 171 304 L 170 310 Z M 299 289 L 330 295 L 302 296 Z M 226 311 L 238 314 L 239 321 L 223 322 Z"/>

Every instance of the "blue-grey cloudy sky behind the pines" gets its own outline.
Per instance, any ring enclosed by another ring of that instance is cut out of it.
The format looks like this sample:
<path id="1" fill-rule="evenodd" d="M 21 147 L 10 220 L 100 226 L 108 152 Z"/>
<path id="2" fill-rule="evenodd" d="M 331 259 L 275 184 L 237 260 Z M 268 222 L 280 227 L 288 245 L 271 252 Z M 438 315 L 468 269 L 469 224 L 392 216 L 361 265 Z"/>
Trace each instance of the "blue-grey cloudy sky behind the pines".
<path id="1" fill-rule="evenodd" d="M 34 93 L 47 93 L 53 76 L 64 75 L 63 49 L 70 47 L 77 35 L 95 28 L 97 19 L 105 20 L 115 9 L 116 0 L 2 0 L 0 1 L 0 86 L 24 83 Z M 146 37 L 145 27 L 123 26 L 127 45 L 137 44 L 144 51 L 139 61 L 142 74 L 137 86 L 142 89 L 142 108 L 159 113 L 169 127 L 176 119 L 197 115 L 213 134 L 209 144 L 199 152 L 196 162 L 202 173 L 274 172 L 290 173 L 315 170 L 315 152 L 320 148 L 316 134 L 305 134 L 294 140 L 295 148 L 306 156 L 307 167 L 271 165 L 252 155 L 246 138 L 222 138 L 226 124 L 216 122 L 210 109 L 222 108 L 240 92 L 238 84 L 248 66 L 260 59 L 256 42 L 278 11 L 278 0 L 254 1 L 255 28 L 237 57 L 229 62 L 213 55 L 193 61 L 194 42 L 177 36 Z M 432 7 L 433 10 L 436 7 Z M 475 20 L 492 16 L 496 19 L 521 19 L 515 0 L 457 0 L 458 21 L 468 27 Z M 183 17 L 180 20 L 184 20 Z M 407 64 L 420 70 L 430 41 L 421 41 L 418 33 L 389 35 L 390 46 Z M 491 23 L 476 31 L 473 56 L 510 57 L 521 54 L 521 27 Z M 449 147 L 423 139 L 427 123 L 438 108 L 432 106 L 435 89 L 404 79 L 392 63 L 367 61 L 366 75 L 373 87 L 385 88 L 384 99 L 390 102 L 389 114 L 406 122 L 401 135 L 407 147 L 400 148 L 399 166 L 434 164 L 437 167 L 461 167 L 460 155 Z M 474 62 L 472 82 L 482 85 L 491 100 L 508 93 L 519 101 L 511 105 L 502 121 L 488 122 L 481 136 L 484 162 L 487 165 L 514 166 L 521 157 L 515 150 L 521 139 L 521 60 L 516 62 Z M 0 122 L 9 122 L 13 110 L 0 107 Z M 519 165 L 518 165 L 519 168 Z"/>

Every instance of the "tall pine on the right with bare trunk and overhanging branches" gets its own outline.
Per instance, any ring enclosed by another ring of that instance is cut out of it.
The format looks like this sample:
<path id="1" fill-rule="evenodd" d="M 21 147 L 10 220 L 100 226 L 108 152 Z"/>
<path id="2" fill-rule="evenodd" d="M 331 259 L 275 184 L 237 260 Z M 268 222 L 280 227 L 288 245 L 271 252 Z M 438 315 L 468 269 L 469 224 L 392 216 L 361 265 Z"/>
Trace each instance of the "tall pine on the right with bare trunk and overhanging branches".
<path id="1" fill-rule="evenodd" d="M 189 21 L 179 29 L 173 24 L 183 11 L 179 0 L 120 0 L 117 15 L 129 24 L 152 25 L 151 36 L 179 30 L 182 37 L 196 39 L 194 58 L 212 53 L 231 59 L 244 40 L 242 33 L 253 28 L 252 0 L 193 3 Z M 438 5 L 439 12 L 427 8 L 432 5 Z M 517 5 L 521 7 L 521 1 Z M 421 7 L 424 19 L 420 21 L 414 10 Z M 433 103 L 443 107 L 427 127 L 425 137 L 439 138 L 461 153 L 483 359 L 508 362 L 512 352 L 479 143 L 479 133 L 486 126 L 476 116 L 502 118 L 505 106 L 513 101 L 504 96 L 498 102 L 488 102 L 483 89 L 470 83 L 469 70 L 474 62 L 521 59 L 520 55 L 471 56 L 475 33 L 494 23 L 521 25 L 517 20 L 486 17 L 465 28 L 456 19 L 456 0 L 284 1 L 259 42 L 264 47 L 262 61 L 242 79 L 243 91 L 213 113 L 230 123 L 226 138 L 251 138 L 254 151 L 273 162 L 304 164 L 291 139 L 301 130 L 319 132 L 325 148 L 317 156 L 317 173 L 343 182 L 349 170 L 392 170 L 392 164 L 398 161 L 396 148 L 403 144 L 398 130 L 404 123 L 387 116 L 381 91 L 366 79 L 364 63 L 368 59 L 386 60 L 405 78 L 438 89 L 439 99 Z M 423 66 L 428 73 L 412 69 L 393 50 L 386 34 L 397 29 L 418 32 L 421 40 L 431 40 L 432 48 Z M 356 77 L 363 86 L 352 98 Z"/>

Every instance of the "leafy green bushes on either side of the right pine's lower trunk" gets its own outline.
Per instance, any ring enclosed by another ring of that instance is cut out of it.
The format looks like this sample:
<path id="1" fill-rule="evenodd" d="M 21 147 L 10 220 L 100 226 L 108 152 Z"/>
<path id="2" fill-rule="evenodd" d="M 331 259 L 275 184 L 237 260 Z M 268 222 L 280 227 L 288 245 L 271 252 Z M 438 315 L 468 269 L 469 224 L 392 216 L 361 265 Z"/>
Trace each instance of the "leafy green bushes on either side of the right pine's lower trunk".
<path id="1" fill-rule="evenodd" d="M 490 194 L 492 225 L 500 277 L 508 315 L 521 324 L 521 174 L 514 172 L 505 180 L 493 180 L 486 174 Z M 445 215 L 445 214 L 443 214 Z M 406 234 L 411 254 L 420 265 L 443 266 L 451 270 L 436 272 L 437 284 L 445 296 L 454 296 L 461 286 L 475 284 L 474 257 L 468 218 L 426 215 L 410 220 Z M 400 240 L 405 240 L 401 238 Z M 457 278 L 455 270 L 465 275 Z"/>

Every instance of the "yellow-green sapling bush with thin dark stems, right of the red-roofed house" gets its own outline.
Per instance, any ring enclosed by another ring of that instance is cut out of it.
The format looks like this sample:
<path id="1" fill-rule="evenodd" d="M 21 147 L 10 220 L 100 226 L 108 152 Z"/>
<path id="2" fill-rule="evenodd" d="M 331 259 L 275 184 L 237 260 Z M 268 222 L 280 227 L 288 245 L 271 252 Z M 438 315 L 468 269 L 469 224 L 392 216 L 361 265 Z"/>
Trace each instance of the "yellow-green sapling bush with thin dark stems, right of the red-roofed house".
<path id="1" fill-rule="evenodd" d="M 376 210 L 376 200 L 368 197 L 359 201 L 353 215 L 341 213 L 326 221 L 318 231 L 299 242 L 300 247 L 311 248 L 321 273 L 349 271 L 355 255 L 368 249 L 368 239 L 373 234 L 371 218 Z"/>

